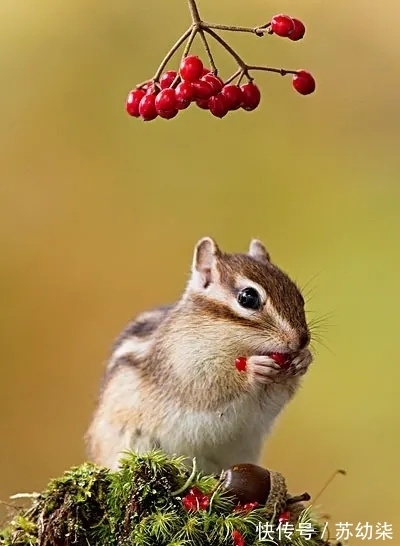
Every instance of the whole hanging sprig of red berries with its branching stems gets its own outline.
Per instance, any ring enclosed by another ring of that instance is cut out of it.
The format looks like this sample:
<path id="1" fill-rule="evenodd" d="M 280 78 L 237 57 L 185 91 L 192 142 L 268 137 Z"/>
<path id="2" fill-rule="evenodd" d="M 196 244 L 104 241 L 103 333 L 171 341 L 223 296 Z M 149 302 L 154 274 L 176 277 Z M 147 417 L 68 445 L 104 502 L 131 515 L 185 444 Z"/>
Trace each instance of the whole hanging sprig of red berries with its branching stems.
<path id="1" fill-rule="evenodd" d="M 304 24 L 299 19 L 279 14 L 272 17 L 267 24 L 253 29 L 214 25 L 205 23 L 199 18 L 197 8 L 194 7 L 195 0 L 189 0 L 189 4 L 192 5 L 192 27 L 182 35 L 166 55 L 155 76 L 130 91 L 125 103 L 126 111 L 130 116 L 141 118 L 144 121 L 152 121 L 157 117 L 172 119 L 178 115 L 180 110 L 185 110 L 193 103 L 218 118 L 223 118 L 228 112 L 234 110 L 255 110 L 260 104 L 261 93 L 250 72 L 257 70 L 277 72 L 282 76 L 291 74 L 293 88 L 301 95 L 309 95 L 315 91 L 315 80 L 306 70 L 284 70 L 247 65 L 232 47 L 215 32 L 215 29 L 220 29 L 252 32 L 258 36 L 275 34 L 296 42 L 301 40 L 306 32 Z M 197 33 L 202 36 L 211 69 L 206 68 L 199 57 L 189 55 L 191 43 Z M 205 33 L 219 42 L 239 66 L 238 71 L 225 81 L 218 76 L 218 70 Z M 163 72 L 172 55 L 186 39 L 188 42 L 179 70 Z M 241 84 L 243 77 L 247 79 L 247 82 Z M 235 80 L 237 80 L 236 83 L 234 83 Z"/>

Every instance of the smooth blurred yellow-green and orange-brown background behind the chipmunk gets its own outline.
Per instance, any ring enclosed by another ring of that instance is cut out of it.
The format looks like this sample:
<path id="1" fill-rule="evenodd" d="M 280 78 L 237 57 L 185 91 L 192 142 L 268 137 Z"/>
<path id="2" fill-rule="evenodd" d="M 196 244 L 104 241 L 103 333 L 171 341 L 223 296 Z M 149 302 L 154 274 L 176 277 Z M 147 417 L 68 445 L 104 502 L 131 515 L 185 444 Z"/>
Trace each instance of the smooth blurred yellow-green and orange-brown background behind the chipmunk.
<path id="1" fill-rule="evenodd" d="M 321 510 L 387 521 L 396 539 L 400 38 L 388 23 L 400 5 L 199 7 L 226 24 L 302 19 L 299 43 L 226 37 L 252 64 L 310 70 L 317 93 L 263 73 L 255 112 L 193 107 L 146 124 L 124 100 L 188 25 L 184 0 L 2 0 L 0 498 L 83 460 L 114 336 L 179 297 L 197 239 L 242 251 L 258 237 L 307 285 L 310 318 L 330 314 L 264 462 L 295 493 L 345 468 Z M 234 64 L 215 52 L 228 76 Z"/>

